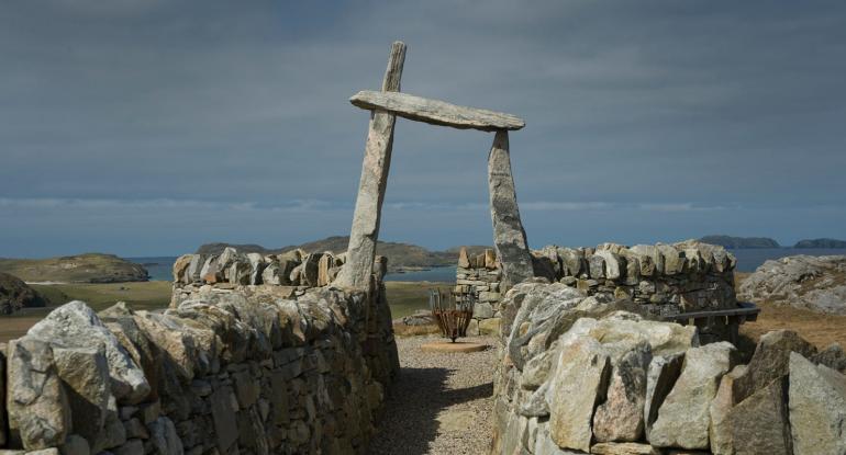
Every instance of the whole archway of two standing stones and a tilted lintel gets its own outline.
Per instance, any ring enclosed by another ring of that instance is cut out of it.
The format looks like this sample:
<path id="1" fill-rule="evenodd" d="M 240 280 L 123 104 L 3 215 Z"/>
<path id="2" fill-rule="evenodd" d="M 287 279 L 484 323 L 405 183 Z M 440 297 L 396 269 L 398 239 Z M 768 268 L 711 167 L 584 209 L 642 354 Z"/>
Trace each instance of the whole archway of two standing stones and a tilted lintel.
<path id="1" fill-rule="evenodd" d="M 393 125 L 398 116 L 432 125 L 496 133 L 488 155 L 488 191 L 493 246 L 502 263 L 503 287 L 534 276 L 526 234 L 520 220 L 508 134 L 523 128 L 525 122 L 511 114 L 400 93 L 404 61 L 405 44 L 393 43 L 381 91 L 360 91 L 349 99 L 354 105 L 370 111 L 370 125 L 346 263 L 333 284 L 365 288 L 370 283 L 391 164 Z"/>

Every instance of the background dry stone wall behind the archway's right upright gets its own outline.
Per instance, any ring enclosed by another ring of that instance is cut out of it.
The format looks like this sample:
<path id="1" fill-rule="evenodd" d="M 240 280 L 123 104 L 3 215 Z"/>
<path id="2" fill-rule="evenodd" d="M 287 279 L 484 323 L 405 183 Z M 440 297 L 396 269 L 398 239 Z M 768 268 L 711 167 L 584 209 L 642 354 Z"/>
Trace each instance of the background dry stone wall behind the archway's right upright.
<path id="1" fill-rule="evenodd" d="M 578 249 L 548 246 L 532 251 L 532 260 L 536 277 L 577 288 L 602 302 L 631 300 L 636 304 L 635 312 L 647 317 L 737 308 L 736 260 L 719 246 L 692 240 L 631 248 L 616 243 Z M 474 318 L 500 317 L 497 303 L 508 291 L 501 276 L 493 250 L 476 257 L 469 257 L 464 249 L 459 253 L 454 292 L 459 298 L 479 302 Z M 708 327 L 701 328 L 703 341 L 730 339 L 736 331 L 736 325 L 727 320 L 704 322 Z"/>

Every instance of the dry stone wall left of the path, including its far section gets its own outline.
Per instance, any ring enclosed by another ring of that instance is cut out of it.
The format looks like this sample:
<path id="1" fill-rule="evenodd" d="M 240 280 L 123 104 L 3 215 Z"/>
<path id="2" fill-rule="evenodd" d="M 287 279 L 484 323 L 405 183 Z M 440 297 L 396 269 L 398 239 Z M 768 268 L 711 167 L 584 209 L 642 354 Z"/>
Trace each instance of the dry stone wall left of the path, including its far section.
<path id="1" fill-rule="evenodd" d="M 178 280 L 164 312 L 119 303 L 97 314 L 73 302 L 11 341 L 0 356 L 8 359 L 0 362 L 0 378 L 8 378 L 0 387 L 0 423 L 8 422 L 0 447 L 68 455 L 365 453 L 399 371 L 381 283 L 369 292 L 242 284 L 255 280 L 258 261 L 236 251 L 221 257 L 218 272 L 209 258 L 180 258 L 177 278 L 199 273 L 202 262 L 215 283 L 187 292 L 196 283 Z M 302 283 L 322 258 L 283 268 L 300 268 L 294 277 Z"/>

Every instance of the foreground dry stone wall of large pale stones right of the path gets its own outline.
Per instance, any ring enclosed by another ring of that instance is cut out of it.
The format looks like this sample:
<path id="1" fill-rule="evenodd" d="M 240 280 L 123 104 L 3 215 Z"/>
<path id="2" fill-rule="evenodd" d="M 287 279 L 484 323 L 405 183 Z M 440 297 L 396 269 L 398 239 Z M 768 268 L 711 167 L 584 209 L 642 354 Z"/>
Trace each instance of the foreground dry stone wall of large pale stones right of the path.
<path id="1" fill-rule="evenodd" d="M 844 454 L 846 355 L 791 331 L 728 342 L 631 300 L 522 283 L 501 303 L 492 454 Z"/>

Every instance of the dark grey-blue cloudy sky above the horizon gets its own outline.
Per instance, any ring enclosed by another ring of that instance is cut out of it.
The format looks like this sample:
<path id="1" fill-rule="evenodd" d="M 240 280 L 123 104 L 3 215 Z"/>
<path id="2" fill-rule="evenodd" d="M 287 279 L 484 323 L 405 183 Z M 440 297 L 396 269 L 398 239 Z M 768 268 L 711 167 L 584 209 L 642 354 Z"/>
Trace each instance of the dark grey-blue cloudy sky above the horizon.
<path id="1" fill-rule="evenodd" d="M 346 235 L 402 90 L 520 115 L 532 247 L 846 237 L 839 1 L 0 3 L 0 257 Z M 489 243 L 492 134 L 398 121 L 381 238 Z"/>

